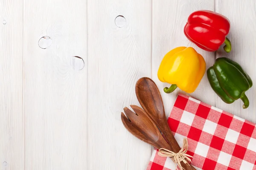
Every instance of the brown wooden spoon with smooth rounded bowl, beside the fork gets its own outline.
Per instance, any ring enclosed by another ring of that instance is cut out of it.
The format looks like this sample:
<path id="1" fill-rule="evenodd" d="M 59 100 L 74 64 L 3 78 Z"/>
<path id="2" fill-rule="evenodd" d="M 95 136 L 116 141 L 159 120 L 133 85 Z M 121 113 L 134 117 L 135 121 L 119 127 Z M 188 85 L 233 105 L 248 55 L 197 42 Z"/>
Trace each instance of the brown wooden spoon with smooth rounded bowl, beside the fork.
<path id="1" fill-rule="evenodd" d="M 157 125 L 159 130 L 163 133 L 163 136 L 166 137 L 171 151 L 178 153 L 180 146 L 172 135 L 172 131 L 167 123 L 163 100 L 157 85 L 148 77 L 140 78 L 136 84 L 136 96 L 142 108 L 146 111 L 148 116 L 151 117 L 155 125 Z M 194 167 L 192 167 L 192 169 L 195 170 Z"/>

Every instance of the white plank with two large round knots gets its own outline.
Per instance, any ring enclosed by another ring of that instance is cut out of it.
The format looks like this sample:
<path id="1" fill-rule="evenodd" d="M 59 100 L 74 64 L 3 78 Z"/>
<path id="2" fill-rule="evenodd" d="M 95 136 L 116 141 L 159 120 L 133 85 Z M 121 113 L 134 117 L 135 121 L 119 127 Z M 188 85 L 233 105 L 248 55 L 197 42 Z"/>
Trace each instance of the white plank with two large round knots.
<path id="1" fill-rule="evenodd" d="M 24 1 L 23 96 L 24 170 L 87 169 L 86 0 Z"/>

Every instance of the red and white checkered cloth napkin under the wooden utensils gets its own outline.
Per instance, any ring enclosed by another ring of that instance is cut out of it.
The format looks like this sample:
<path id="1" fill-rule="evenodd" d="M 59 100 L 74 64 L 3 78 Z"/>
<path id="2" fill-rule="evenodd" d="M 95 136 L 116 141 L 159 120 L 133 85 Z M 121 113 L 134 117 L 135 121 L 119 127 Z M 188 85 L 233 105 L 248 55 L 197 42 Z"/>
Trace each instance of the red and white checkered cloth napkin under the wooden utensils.
<path id="1" fill-rule="evenodd" d="M 197 170 L 256 170 L 256 125 L 183 94 L 168 119 L 179 143 L 188 139 L 188 154 Z M 170 158 L 154 150 L 147 170 L 175 170 Z"/>

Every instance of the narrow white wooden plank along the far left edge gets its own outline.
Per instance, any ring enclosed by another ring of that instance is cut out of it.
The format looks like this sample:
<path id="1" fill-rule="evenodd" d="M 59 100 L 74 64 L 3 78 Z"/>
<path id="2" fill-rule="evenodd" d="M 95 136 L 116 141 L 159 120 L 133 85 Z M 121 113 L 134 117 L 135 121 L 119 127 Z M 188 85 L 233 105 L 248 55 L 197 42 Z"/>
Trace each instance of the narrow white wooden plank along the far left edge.
<path id="1" fill-rule="evenodd" d="M 0 169 L 23 169 L 23 0 L 0 1 Z"/>

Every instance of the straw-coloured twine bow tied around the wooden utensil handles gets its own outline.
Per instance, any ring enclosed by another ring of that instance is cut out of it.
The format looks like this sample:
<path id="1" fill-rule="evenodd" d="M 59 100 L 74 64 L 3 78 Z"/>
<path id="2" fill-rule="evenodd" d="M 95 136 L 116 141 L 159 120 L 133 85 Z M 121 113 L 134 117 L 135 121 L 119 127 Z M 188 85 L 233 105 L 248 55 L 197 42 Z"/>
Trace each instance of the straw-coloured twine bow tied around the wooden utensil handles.
<path id="1" fill-rule="evenodd" d="M 183 161 L 185 164 L 191 162 L 191 158 L 193 158 L 193 156 L 190 156 L 188 154 L 186 154 L 187 150 L 188 150 L 188 141 L 186 138 L 183 139 L 183 146 L 180 149 L 180 151 L 178 153 L 172 152 L 171 150 L 165 149 L 165 148 L 160 148 L 158 151 L 158 155 L 159 156 L 163 156 L 163 157 L 170 157 L 172 159 L 172 161 L 174 161 L 175 164 L 177 164 L 177 166 L 180 168 L 180 170 L 185 170 L 180 162 Z M 187 159 L 187 161 L 186 161 Z M 177 168 L 177 167 L 176 167 Z"/>

